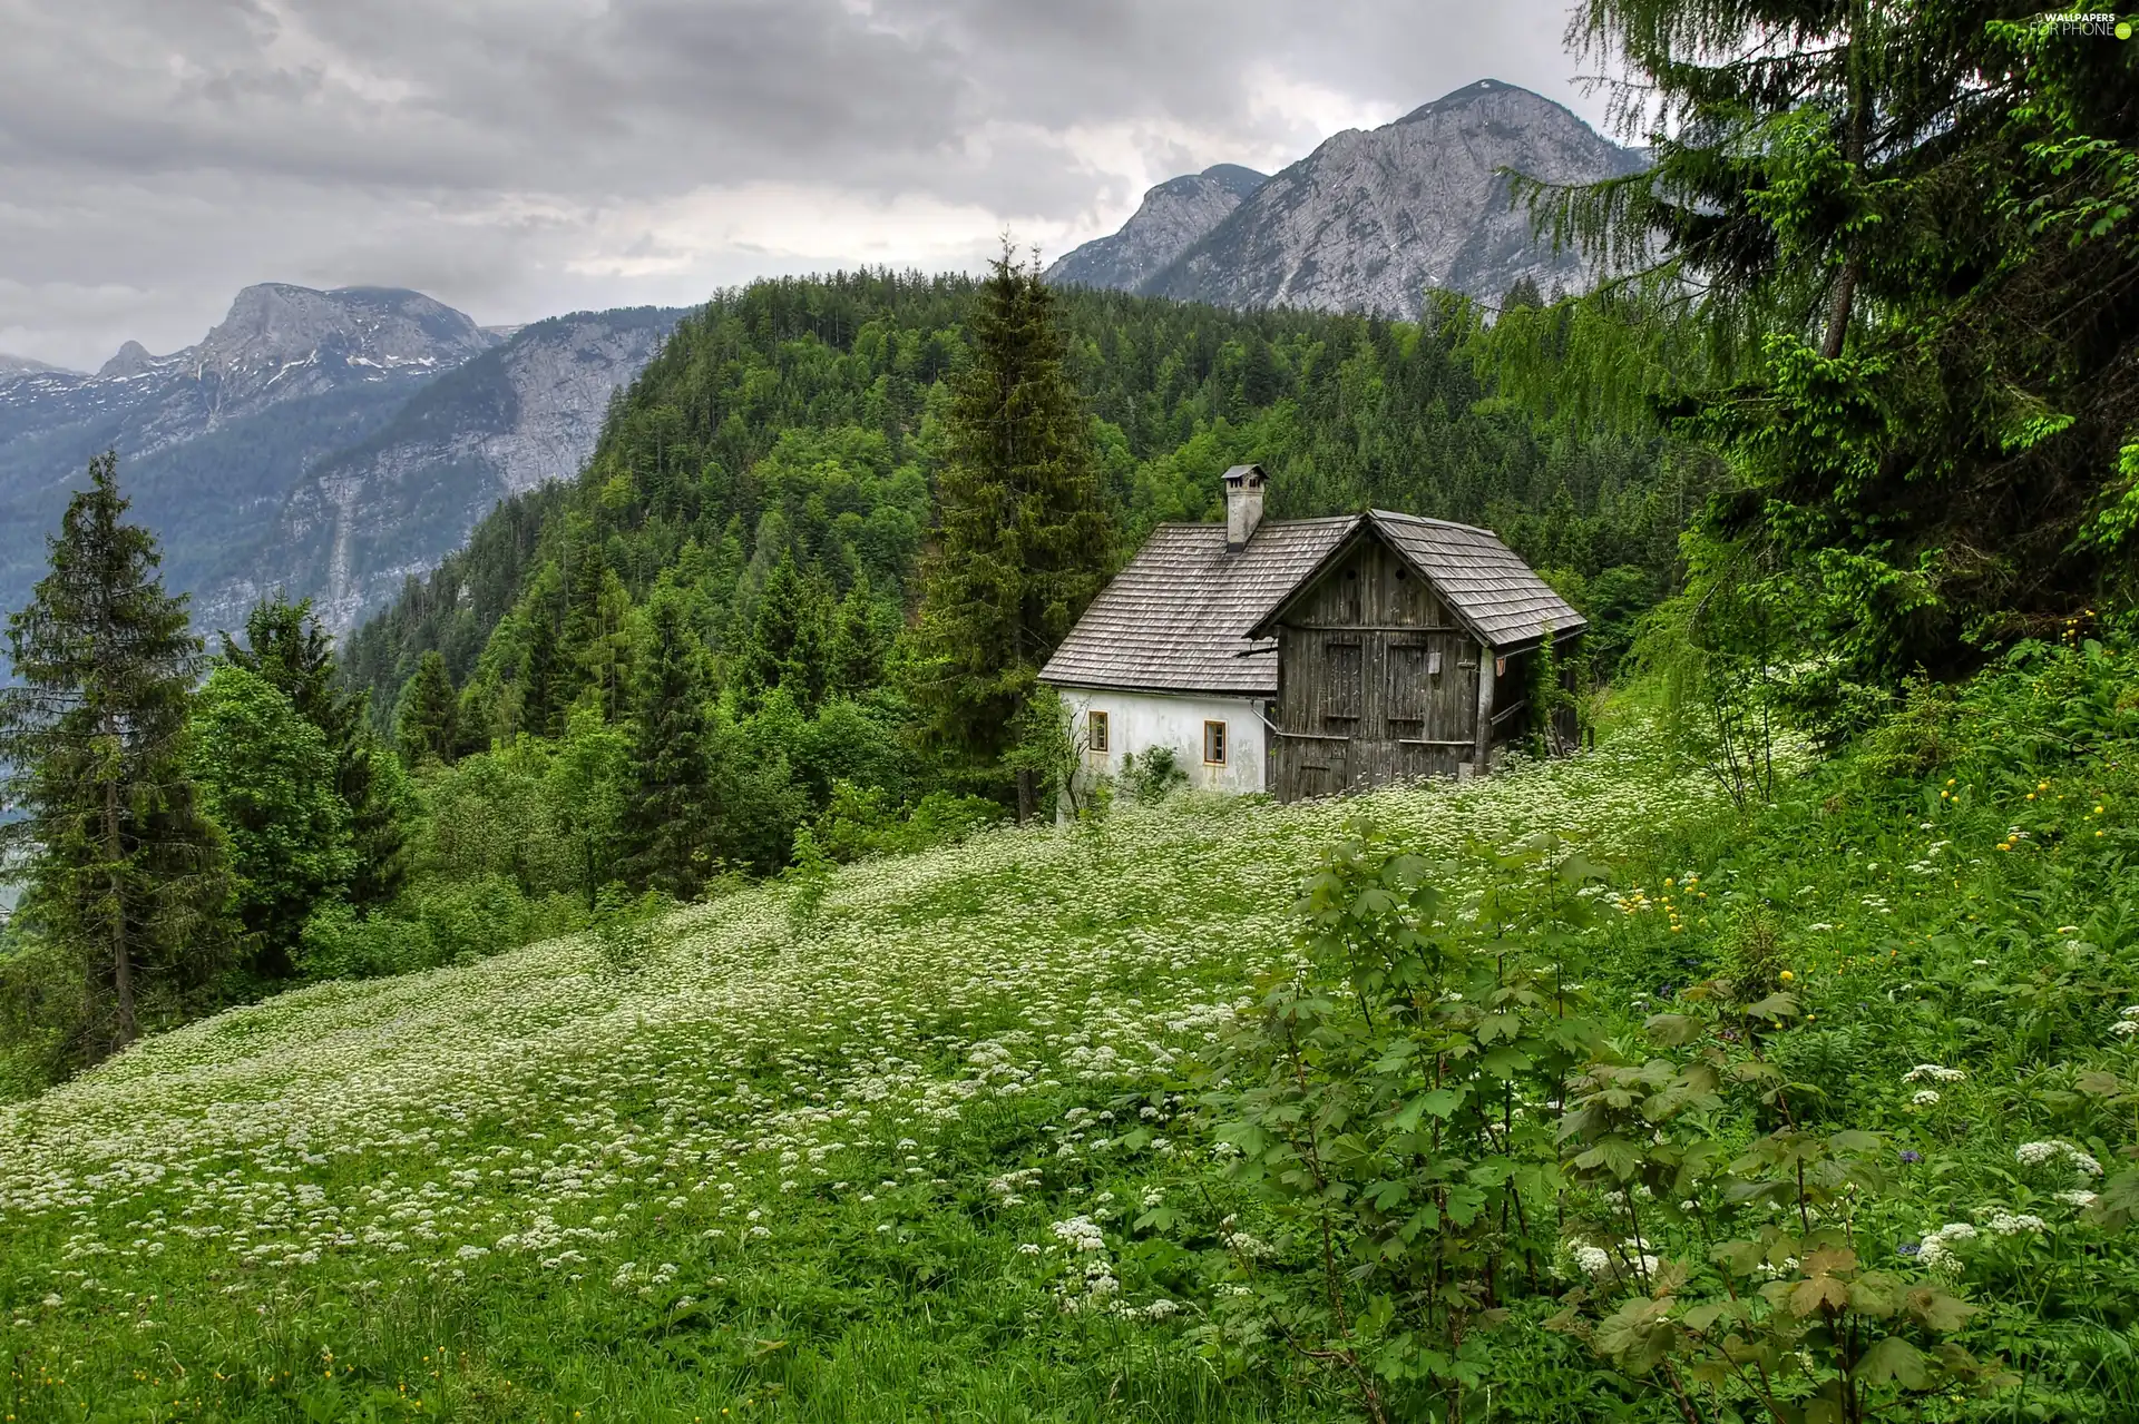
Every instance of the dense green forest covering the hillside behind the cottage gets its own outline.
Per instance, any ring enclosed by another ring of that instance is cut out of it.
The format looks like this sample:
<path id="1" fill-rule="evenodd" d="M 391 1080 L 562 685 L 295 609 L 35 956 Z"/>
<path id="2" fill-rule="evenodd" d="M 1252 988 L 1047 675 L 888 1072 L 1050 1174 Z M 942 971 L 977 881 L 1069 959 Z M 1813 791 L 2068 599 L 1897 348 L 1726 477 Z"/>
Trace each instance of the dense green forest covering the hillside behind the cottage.
<path id="1" fill-rule="evenodd" d="M 443 654 L 456 686 L 488 678 L 486 654 L 513 665 L 507 644 L 535 622 L 565 637 L 575 573 L 612 573 L 633 601 L 689 590 L 729 667 L 783 558 L 813 597 L 860 586 L 871 616 L 898 626 L 971 297 L 967 278 L 890 272 L 717 295 L 622 393 L 573 485 L 501 505 L 351 637 L 353 684 L 385 721 L 424 652 Z M 1110 291 L 1059 293 L 1057 312 L 1119 556 L 1157 522 L 1215 520 L 1217 475 L 1256 460 L 1273 517 L 1380 505 L 1487 524 L 1538 567 L 1617 571 L 1611 618 L 1666 592 L 1677 535 L 1715 479 L 1653 436 L 1542 430 L 1480 378 L 1480 334 L 1461 314 L 1433 329 Z"/>

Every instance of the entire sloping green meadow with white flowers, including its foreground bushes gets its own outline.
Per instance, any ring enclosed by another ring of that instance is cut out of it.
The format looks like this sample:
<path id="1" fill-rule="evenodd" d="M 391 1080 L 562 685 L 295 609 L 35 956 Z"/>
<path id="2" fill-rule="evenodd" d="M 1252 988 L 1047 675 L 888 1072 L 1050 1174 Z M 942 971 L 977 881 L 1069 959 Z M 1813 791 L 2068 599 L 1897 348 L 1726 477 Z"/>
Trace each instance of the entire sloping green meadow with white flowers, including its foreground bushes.
<path id="1" fill-rule="evenodd" d="M 1750 815 L 1628 721 L 282 994 L 0 1110 L 6 1413 L 2133 1418 L 2135 748 L 2066 650 Z"/>

